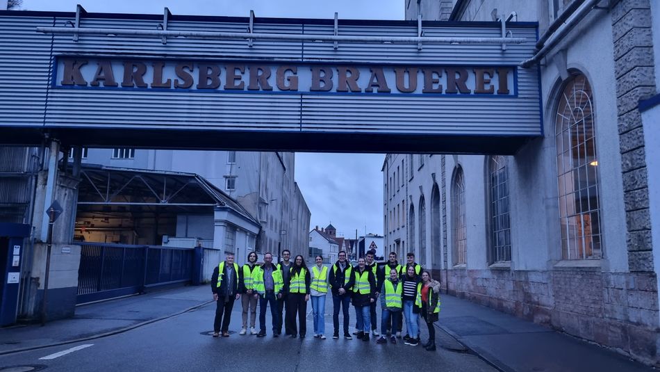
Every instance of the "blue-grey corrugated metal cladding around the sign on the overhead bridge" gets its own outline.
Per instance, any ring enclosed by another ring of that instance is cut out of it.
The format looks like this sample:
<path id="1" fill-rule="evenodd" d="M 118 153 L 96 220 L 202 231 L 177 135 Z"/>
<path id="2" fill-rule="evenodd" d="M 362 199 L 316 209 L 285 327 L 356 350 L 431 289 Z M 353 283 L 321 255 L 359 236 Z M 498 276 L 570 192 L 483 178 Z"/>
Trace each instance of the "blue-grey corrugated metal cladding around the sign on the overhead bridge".
<path id="1" fill-rule="evenodd" d="M 64 27 L 73 18 L 56 17 Z M 155 19 L 108 18 L 81 20 L 83 28 L 155 30 Z M 256 22 L 257 33 L 332 35 L 331 24 L 318 22 Z M 117 35 L 42 35 L 37 26 L 52 26 L 53 17 L 0 17 L 0 124 L 45 124 L 47 128 L 95 127 L 130 129 L 214 129 L 284 132 L 335 132 L 374 134 L 429 134 L 538 136 L 542 133 L 536 68 L 517 70 L 517 97 L 468 97 L 427 95 L 242 94 L 167 90 L 65 89 L 47 92 L 49 61 L 53 56 L 119 56 L 119 58 L 172 58 L 175 60 L 290 60 L 297 63 L 399 63 L 419 66 L 515 66 L 534 51 L 536 28 L 515 26 L 522 45 L 377 45 L 286 40 L 192 40 L 127 37 Z M 168 24 L 170 31 L 245 32 L 245 23 L 217 20 Z M 340 35 L 416 36 L 411 24 L 365 22 L 340 24 Z M 495 24 L 474 27 L 434 24 L 424 26 L 424 36 L 500 37 Z M 53 40 L 51 45 L 51 40 Z M 52 51 L 51 51 L 52 46 Z M 48 102 L 46 103 L 46 97 Z M 176 140 L 176 139 L 174 139 Z M 191 145 L 194 147 L 194 145 Z"/>

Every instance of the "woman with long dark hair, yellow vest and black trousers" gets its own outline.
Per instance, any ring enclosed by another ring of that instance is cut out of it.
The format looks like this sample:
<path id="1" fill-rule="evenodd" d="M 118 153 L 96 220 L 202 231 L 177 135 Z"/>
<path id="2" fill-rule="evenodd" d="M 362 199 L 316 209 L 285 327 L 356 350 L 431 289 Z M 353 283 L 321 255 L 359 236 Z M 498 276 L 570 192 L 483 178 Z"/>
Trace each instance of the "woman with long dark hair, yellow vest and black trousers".
<path id="1" fill-rule="evenodd" d="M 300 338 L 304 339 L 307 333 L 307 301 L 309 300 L 309 286 L 311 277 L 305 265 L 305 259 L 298 254 L 293 260 L 288 281 L 284 283 L 284 291 L 287 293 L 286 322 L 291 338 L 297 337 L 296 315 L 300 326 Z"/>

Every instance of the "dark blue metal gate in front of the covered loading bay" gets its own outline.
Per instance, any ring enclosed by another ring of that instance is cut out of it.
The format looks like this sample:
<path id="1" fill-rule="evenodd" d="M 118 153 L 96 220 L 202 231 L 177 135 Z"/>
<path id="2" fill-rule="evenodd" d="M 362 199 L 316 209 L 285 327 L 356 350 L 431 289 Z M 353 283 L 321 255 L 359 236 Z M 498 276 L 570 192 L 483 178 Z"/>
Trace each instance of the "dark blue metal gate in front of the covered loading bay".
<path id="1" fill-rule="evenodd" d="M 195 249 L 81 243 L 77 303 L 192 280 Z"/>

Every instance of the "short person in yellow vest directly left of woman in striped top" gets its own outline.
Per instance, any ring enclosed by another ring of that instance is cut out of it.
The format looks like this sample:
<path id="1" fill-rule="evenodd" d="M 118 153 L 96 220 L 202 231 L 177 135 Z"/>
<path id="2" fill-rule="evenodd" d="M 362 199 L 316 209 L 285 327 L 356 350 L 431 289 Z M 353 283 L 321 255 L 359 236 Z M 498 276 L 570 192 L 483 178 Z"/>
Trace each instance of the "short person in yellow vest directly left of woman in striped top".
<path id="1" fill-rule="evenodd" d="M 390 268 L 390 277 L 383 282 L 381 293 L 381 337 L 376 341 L 377 343 L 387 343 L 386 334 L 390 330 L 396 330 L 396 325 L 401 322 L 402 291 L 403 286 L 399 282 L 399 271 L 396 268 Z M 393 326 L 390 327 L 390 325 Z M 390 342 L 397 343 L 394 332 L 390 333 Z"/>

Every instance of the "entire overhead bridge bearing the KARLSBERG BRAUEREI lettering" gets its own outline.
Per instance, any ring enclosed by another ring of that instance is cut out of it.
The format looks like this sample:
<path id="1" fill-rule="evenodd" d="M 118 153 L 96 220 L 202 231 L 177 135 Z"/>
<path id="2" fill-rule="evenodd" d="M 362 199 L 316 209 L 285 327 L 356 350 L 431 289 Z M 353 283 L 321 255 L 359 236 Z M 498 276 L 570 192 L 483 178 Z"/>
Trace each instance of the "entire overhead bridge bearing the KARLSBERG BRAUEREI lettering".
<path id="1" fill-rule="evenodd" d="M 536 23 L 521 44 L 372 42 L 418 35 L 417 22 L 252 19 L 264 35 L 364 41 L 161 38 L 152 15 L 0 14 L 0 145 L 513 154 L 543 134 Z M 54 23 L 53 23 L 54 22 Z M 245 32 L 249 18 L 176 16 L 167 32 Z M 500 38 L 499 22 L 423 22 L 423 35 Z M 113 31 L 115 30 L 115 31 Z M 121 31 L 121 32 L 119 32 Z M 126 32 L 124 32 L 126 31 Z M 15 49 L 15 40 L 22 48 Z M 167 40 L 165 40 L 167 39 Z M 26 63 L 25 61 L 29 61 Z"/>

